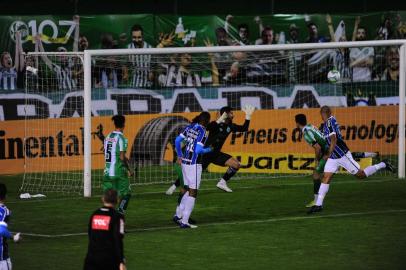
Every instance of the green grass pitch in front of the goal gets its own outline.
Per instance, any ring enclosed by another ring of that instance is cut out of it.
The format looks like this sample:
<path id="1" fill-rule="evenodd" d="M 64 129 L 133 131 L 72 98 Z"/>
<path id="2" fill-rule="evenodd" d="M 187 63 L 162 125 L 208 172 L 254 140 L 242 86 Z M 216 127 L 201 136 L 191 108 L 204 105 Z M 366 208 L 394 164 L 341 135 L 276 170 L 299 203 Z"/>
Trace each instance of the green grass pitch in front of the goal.
<path id="1" fill-rule="evenodd" d="M 23 233 L 21 243 L 10 243 L 13 269 L 82 269 L 88 217 L 100 198 L 21 201 L 21 178 L 0 178 L 9 189 L 9 228 Z M 405 269 L 404 180 L 336 176 L 315 216 L 304 208 L 310 177 L 247 178 L 230 183 L 232 194 L 214 186 L 202 184 L 196 230 L 171 222 L 176 196 L 164 195 L 167 185 L 135 187 L 126 214 L 128 269 Z"/>

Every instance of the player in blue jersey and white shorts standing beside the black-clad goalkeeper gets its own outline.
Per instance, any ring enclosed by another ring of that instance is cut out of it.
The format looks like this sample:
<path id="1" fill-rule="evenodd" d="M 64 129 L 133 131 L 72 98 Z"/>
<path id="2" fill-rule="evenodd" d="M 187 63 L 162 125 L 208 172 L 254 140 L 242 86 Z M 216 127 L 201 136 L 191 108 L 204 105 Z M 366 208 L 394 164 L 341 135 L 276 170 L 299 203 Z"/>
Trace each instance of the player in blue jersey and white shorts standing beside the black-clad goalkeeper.
<path id="1" fill-rule="evenodd" d="M 202 176 L 201 155 L 212 151 L 210 147 L 204 148 L 204 143 L 207 140 L 206 126 L 209 123 L 210 114 L 202 112 L 193 119 L 192 124 L 188 125 L 175 140 L 178 155 L 177 162 L 181 164 L 183 181 L 185 189 L 187 189 L 180 203 L 183 208 L 182 219 L 178 217 L 181 228 L 196 228 L 196 226 L 189 224 L 189 217 L 195 205 Z M 183 150 L 182 142 L 185 144 Z"/>

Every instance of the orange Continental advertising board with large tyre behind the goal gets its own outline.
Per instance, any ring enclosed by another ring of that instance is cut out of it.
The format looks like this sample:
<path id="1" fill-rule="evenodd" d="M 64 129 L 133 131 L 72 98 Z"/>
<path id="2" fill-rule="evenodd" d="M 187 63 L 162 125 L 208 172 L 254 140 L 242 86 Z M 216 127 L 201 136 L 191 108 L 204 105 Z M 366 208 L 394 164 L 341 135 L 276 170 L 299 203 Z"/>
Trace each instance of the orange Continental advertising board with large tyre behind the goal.
<path id="1" fill-rule="evenodd" d="M 232 133 L 222 151 L 239 159 L 243 172 L 311 172 L 312 148 L 295 126 L 297 113 L 305 113 L 310 123 L 321 125 L 318 108 L 258 110 L 248 132 Z M 196 114 L 128 115 L 124 134 L 132 166 L 172 164 L 174 139 Z M 397 154 L 397 106 L 337 108 L 333 114 L 351 151 Z M 216 112 L 211 115 L 212 119 L 217 117 Z M 242 124 L 244 113 L 236 111 L 234 122 Z M 112 130 L 110 116 L 92 118 L 92 169 L 103 168 L 103 139 Z M 79 117 L 0 121 L 1 174 L 81 170 L 83 148 L 83 119 Z M 370 162 L 362 161 L 362 167 Z"/>

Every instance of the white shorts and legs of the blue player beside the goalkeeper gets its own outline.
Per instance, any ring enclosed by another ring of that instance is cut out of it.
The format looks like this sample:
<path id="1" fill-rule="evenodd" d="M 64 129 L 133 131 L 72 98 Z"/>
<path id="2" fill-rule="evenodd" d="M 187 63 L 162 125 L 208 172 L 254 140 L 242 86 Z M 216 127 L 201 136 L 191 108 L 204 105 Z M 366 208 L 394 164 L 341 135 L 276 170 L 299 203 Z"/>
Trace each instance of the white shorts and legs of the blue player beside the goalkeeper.
<path id="1" fill-rule="evenodd" d="M 189 224 L 189 218 L 190 215 L 192 214 L 193 208 L 195 207 L 197 191 L 200 187 L 200 181 L 202 176 L 202 165 L 201 164 L 187 165 L 184 172 L 186 172 L 186 174 L 183 175 L 184 178 L 188 179 L 187 182 L 189 186 L 189 196 L 185 201 L 185 209 L 183 210 L 180 227 L 196 228 L 197 226 Z"/>

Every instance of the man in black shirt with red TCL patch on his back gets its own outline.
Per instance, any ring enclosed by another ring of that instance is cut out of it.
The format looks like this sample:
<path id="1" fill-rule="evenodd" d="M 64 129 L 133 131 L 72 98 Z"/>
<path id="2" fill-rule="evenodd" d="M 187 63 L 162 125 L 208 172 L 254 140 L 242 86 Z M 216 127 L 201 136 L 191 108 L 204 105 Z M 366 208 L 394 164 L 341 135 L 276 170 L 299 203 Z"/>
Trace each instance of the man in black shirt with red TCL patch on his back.
<path id="1" fill-rule="evenodd" d="M 117 191 L 106 190 L 103 206 L 89 220 L 89 246 L 84 270 L 125 270 L 124 216 L 116 211 Z"/>

